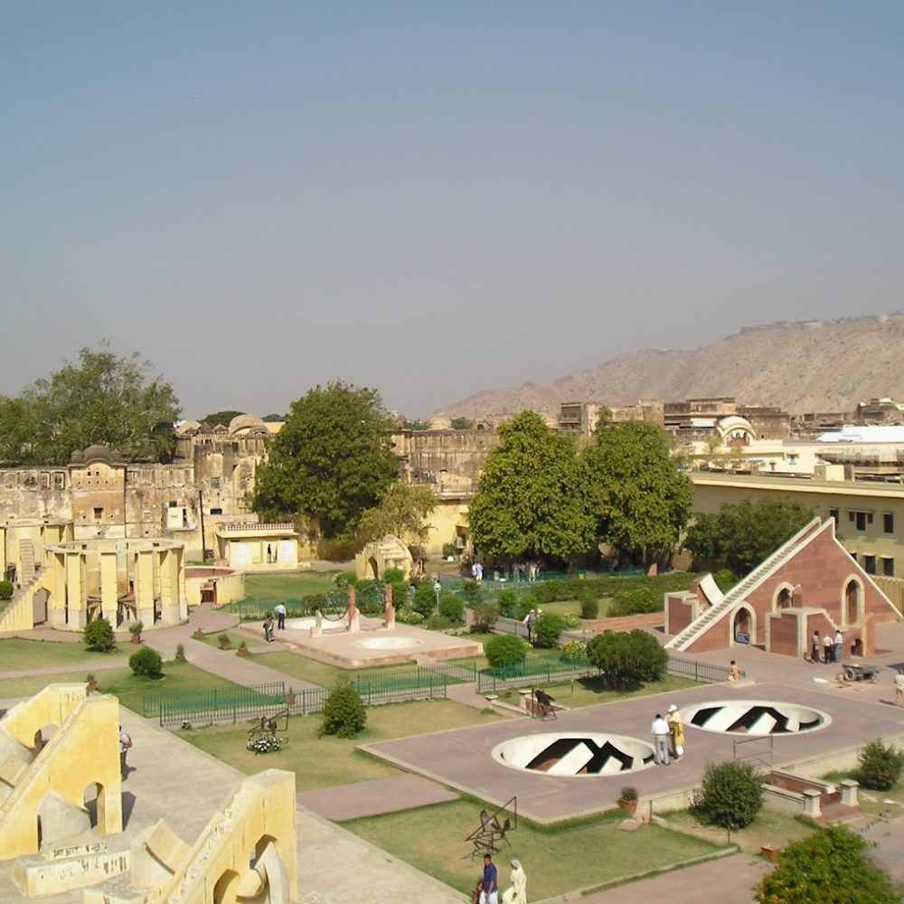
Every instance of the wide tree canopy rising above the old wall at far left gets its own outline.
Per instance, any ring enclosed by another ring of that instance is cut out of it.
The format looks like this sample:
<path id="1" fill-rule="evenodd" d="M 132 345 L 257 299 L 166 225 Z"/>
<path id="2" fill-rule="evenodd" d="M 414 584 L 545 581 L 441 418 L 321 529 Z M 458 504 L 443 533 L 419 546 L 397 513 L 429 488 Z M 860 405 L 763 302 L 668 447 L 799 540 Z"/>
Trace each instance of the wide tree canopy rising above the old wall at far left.
<path id="1" fill-rule="evenodd" d="M 127 459 L 165 459 L 173 447 L 179 402 L 162 377 L 149 377 L 138 353 L 119 357 L 108 344 L 83 348 L 18 398 L 0 398 L 0 459 L 17 465 L 65 465 L 93 445 Z"/>

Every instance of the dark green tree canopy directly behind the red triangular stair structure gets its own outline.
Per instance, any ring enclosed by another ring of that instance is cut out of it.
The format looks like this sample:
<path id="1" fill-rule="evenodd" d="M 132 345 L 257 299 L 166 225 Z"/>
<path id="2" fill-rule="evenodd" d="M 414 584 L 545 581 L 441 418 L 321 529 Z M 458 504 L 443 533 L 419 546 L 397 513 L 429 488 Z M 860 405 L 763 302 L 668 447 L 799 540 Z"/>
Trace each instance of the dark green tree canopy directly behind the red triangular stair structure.
<path id="1" fill-rule="evenodd" d="M 793 500 L 744 499 L 722 505 L 715 514 L 696 515 L 683 548 L 713 570 L 747 574 L 813 518 L 813 511 Z"/>

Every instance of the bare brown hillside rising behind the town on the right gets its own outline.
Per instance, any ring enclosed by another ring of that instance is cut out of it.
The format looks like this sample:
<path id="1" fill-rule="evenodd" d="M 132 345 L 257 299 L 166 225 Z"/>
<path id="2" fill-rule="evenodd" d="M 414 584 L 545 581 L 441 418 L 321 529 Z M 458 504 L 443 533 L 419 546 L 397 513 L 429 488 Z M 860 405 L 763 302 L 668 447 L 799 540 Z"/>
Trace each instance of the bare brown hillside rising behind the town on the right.
<path id="1" fill-rule="evenodd" d="M 645 349 L 548 383 L 486 390 L 443 409 L 481 418 L 525 408 L 557 414 L 563 401 L 631 405 L 733 396 L 791 414 L 852 411 L 859 401 L 904 401 L 904 315 L 751 326 L 692 351 Z"/>

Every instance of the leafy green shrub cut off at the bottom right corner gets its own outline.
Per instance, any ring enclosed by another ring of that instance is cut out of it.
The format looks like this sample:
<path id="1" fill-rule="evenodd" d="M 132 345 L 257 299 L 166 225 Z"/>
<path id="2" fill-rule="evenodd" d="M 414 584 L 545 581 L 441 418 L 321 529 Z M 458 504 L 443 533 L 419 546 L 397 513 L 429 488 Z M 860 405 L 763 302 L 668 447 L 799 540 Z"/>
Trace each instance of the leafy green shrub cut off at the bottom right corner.
<path id="1" fill-rule="evenodd" d="M 887 872 L 868 855 L 872 845 L 843 825 L 829 825 L 778 855 L 775 870 L 760 880 L 758 904 L 845 901 L 899 904 Z"/>

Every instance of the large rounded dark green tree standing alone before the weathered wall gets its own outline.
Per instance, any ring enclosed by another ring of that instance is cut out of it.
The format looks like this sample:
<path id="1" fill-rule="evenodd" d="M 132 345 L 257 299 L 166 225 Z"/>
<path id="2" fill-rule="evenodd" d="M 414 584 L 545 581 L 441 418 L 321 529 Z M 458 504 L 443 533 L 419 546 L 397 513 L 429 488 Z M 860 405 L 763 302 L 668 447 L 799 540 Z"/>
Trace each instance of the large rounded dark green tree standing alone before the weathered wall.
<path id="1" fill-rule="evenodd" d="M 351 536 L 399 472 L 380 394 L 342 381 L 294 401 L 259 468 L 253 505 L 267 518 L 306 515 L 327 538 Z"/>

